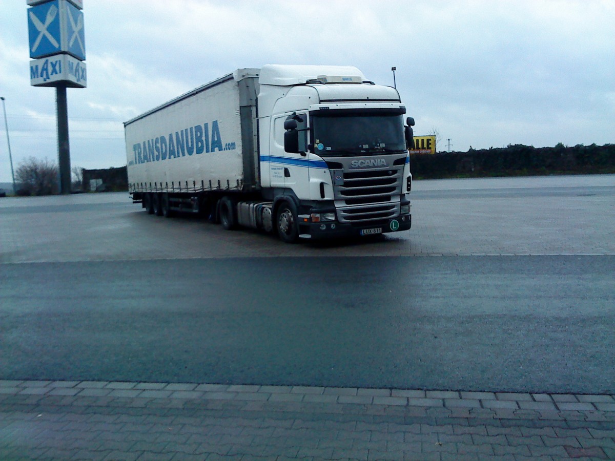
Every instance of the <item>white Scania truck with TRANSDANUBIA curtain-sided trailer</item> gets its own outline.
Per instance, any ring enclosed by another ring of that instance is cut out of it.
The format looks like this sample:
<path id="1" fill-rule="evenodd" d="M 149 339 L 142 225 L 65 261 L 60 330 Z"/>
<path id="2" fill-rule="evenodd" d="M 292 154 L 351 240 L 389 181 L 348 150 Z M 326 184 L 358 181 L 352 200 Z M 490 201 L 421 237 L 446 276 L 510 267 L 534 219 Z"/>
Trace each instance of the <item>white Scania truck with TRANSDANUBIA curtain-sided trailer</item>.
<path id="1" fill-rule="evenodd" d="M 405 112 L 352 66 L 237 69 L 124 123 L 129 192 L 289 243 L 407 230 Z"/>

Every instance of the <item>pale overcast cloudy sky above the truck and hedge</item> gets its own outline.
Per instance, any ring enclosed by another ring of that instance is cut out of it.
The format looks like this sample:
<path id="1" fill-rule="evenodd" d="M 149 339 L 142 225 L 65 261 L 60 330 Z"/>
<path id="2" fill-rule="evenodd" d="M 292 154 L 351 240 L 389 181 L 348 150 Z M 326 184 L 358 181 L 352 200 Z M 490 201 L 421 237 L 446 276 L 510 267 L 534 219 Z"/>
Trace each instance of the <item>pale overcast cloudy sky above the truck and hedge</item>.
<path id="1" fill-rule="evenodd" d="M 24 0 L 2 0 L 10 146 L 57 162 L 55 89 L 30 85 Z M 615 142 L 615 1 L 84 0 L 88 87 L 68 89 L 71 164 L 125 165 L 122 122 L 236 68 L 354 65 L 446 150 Z M 0 182 L 10 181 L 4 119 Z"/>

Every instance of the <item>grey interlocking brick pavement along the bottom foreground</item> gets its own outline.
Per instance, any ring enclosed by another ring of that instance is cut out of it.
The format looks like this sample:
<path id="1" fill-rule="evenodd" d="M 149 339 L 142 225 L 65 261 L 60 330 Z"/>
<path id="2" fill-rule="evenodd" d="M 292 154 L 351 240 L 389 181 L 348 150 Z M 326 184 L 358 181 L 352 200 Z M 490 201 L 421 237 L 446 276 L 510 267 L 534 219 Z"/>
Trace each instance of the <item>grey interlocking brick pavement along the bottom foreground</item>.
<path id="1" fill-rule="evenodd" d="M 612 395 L 0 380 L 1 460 L 615 459 Z"/>

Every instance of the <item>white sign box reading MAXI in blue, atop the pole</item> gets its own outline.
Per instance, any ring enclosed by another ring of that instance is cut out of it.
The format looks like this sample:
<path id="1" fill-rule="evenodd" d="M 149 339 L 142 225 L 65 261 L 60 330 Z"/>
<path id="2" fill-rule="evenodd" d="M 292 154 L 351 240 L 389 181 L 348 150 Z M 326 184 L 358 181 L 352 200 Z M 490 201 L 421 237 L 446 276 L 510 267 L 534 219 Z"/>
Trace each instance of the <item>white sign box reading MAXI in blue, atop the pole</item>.
<path id="1" fill-rule="evenodd" d="M 87 87 L 85 63 L 71 55 L 54 55 L 30 61 L 30 84 L 35 87 Z"/>

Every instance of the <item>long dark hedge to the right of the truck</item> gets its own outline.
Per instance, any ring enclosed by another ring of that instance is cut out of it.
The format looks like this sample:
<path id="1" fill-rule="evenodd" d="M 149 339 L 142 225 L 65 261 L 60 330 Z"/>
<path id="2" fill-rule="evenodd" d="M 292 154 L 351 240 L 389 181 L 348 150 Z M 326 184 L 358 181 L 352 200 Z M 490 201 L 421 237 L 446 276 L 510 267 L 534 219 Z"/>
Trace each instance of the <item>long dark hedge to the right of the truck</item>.
<path id="1" fill-rule="evenodd" d="M 523 144 L 467 152 L 413 154 L 416 179 L 615 173 L 615 144 L 534 148 Z"/>

